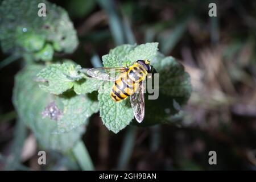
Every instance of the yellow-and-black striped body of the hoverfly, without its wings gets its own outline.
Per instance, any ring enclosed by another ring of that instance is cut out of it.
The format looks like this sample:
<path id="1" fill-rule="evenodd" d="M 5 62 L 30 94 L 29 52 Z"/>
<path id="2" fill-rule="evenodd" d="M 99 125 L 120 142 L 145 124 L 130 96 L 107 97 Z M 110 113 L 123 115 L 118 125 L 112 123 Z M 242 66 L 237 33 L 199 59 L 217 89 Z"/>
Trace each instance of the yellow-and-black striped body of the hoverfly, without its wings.
<path id="1" fill-rule="evenodd" d="M 139 83 L 147 76 L 147 71 L 138 63 L 135 63 L 129 70 L 122 73 L 117 80 L 115 80 L 110 93 L 114 101 L 125 100 L 131 94 L 135 93 L 139 88 Z"/>

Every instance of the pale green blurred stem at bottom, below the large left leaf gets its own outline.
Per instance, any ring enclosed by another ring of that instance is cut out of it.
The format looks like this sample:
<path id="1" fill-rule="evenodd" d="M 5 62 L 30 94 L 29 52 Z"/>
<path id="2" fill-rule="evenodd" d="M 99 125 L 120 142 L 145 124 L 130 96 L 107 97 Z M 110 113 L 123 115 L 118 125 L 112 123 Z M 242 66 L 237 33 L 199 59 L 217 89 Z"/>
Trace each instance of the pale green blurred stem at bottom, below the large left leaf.
<path id="1" fill-rule="evenodd" d="M 84 142 L 82 142 L 82 140 L 77 142 L 76 146 L 73 148 L 73 154 L 75 155 L 76 160 L 79 163 L 82 170 L 84 171 L 94 170 L 92 159 L 90 159 L 89 152 L 85 147 Z"/>

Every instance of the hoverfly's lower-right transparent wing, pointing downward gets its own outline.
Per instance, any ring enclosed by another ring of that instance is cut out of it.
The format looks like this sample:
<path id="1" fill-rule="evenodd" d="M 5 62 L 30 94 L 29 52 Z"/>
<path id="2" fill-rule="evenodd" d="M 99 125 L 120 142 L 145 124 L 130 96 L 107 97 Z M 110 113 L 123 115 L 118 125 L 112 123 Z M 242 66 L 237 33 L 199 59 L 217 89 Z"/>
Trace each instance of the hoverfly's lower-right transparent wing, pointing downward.
<path id="1" fill-rule="evenodd" d="M 137 92 L 131 95 L 131 107 L 136 120 L 141 123 L 145 115 L 144 87 L 142 82 L 139 83 Z"/>

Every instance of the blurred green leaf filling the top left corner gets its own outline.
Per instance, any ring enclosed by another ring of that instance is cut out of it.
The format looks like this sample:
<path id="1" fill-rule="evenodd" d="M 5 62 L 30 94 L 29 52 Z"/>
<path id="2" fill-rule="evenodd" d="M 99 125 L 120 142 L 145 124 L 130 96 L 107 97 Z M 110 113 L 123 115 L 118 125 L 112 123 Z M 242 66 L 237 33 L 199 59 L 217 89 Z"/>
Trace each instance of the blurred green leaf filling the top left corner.
<path id="1" fill-rule="evenodd" d="M 39 3 L 46 4 L 47 16 L 38 16 Z M 26 58 L 29 54 L 35 59 L 35 51 L 43 49 L 46 42 L 64 53 L 73 52 L 78 45 L 67 12 L 48 1 L 1 1 L 0 17 L 0 42 L 5 53 L 15 52 Z"/>

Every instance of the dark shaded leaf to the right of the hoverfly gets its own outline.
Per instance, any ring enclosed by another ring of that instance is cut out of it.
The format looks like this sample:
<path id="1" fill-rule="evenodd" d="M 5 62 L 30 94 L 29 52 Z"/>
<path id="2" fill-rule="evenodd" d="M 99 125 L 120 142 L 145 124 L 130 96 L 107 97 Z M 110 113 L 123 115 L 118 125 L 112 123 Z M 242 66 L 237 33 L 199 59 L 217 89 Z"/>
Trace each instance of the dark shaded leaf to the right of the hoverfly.
<path id="1" fill-rule="evenodd" d="M 174 57 L 164 57 L 158 53 L 151 64 L 159 73 L 159 97 L 156 100 L 148 100 L 148 94 L 145 94 L 145 119 L 139 124 L 133 122 L 139 126 L 174 121 L 174 117 L 180 113 L 181 107 L 187 103 L 192 92 L 188 73 Z M 152 82 L 154 83 L 154 81 Z"/>

